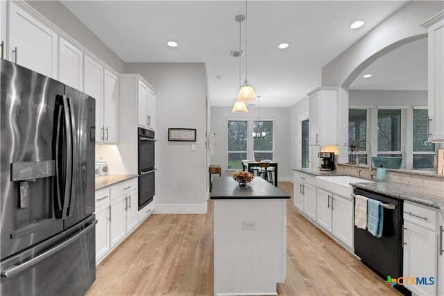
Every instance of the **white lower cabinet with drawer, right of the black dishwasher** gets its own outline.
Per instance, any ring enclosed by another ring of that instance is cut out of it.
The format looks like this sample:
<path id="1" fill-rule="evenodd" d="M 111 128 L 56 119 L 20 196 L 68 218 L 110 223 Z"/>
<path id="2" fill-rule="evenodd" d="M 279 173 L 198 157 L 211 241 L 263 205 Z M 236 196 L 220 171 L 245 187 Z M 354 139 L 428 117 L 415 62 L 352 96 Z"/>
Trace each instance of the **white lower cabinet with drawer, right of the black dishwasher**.
<path id="1" fill-rule="evenodd" d="M 404 203 L 402 273 L 403 277 L 421 279 L 421 284 L 404 286 L 416 295 L 437 295 L 437 287 L 441 288 L 444 280 L 442 275 L 438 276 L 438 256 L 440 256 L 438 248 L 440 246 L 436 214 L 438 213 L 432 209 Z M 434 281 L 433 284 L 432 281 Z"/>

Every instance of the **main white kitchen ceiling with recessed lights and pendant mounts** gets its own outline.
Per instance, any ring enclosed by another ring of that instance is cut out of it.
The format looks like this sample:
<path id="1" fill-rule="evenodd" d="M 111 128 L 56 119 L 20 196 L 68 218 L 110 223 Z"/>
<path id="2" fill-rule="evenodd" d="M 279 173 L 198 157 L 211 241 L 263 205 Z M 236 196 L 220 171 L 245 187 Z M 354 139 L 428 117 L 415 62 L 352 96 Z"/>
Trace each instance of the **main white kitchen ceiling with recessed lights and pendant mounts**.
<path id="1" fill-rule="evenodd" d="M 234 17 L 245 15 L 244 1 L 62 3 L 124 62 L 205 63 L 211 105 L 233 105 L 239 91 L 239 58 L 228 56 L 228 51 L 239 49 Z M 248 1 L 248 80 L 262 96 L 261 105 L 289 107 L 302 99 L 321 85 L 321 68 L 327 62 L 405 3 Z M 357 20 L 366 24 L 350 29 Z M 169 40 L 179 45 L 170 48 Z M 278 49 L 282 42 L 289 48 Z M 245 69 L 244 58 L 242 62 Z"/>

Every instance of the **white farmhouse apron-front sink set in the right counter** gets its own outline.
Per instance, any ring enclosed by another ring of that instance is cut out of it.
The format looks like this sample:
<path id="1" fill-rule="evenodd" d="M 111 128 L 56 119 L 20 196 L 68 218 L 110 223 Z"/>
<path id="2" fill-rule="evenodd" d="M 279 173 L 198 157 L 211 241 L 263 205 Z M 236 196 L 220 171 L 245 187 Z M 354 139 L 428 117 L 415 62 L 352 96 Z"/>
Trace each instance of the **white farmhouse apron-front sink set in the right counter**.
<path id="1" fill-rule="evenodd" d="M 319 189 L 323 189 L 348 199 L 351 199 L 350 194 L 353 193 L 353 187 L 350 183 L 360 182 L 374 183 L 370 180 L 350 176 L 316 177 L 316 186 L 318 186 Z"/>

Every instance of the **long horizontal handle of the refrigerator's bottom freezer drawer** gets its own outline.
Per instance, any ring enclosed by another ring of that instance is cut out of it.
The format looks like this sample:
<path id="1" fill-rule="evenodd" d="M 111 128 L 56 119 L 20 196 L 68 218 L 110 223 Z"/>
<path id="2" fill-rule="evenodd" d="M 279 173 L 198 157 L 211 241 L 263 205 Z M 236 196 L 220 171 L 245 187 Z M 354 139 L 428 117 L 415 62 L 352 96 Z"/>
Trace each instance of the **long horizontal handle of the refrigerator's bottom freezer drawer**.
<path id="1" fill-rule="evenodd" d="M 71 238 L 68 238 L 63 243 L 60 243 L 59 245 L 56 245 L 56 247 L 53 247 L 52 249 L 47 250 L 46 252 L 36 256 L 35 258 L 26 261 L 25 263 L 22 263 L 20 265 L 13 265 L 10 268 L 6 270 L 2 270 L 0 272 L 1 277 L 13 277 L 17 275 L 18 273 L 26 270 L 27 268 L 31 268 L 33 265 L 39 263 L 40 261 L 48 258 L 49 256 L 56 254 L 58 251 L 64 249 L 68 245 L 71 245 L 71 243 L 74 243 L 78 240 L 78 238 L 84 236 L 89 230 L 93 229 L 97 224 L 97 220 L 92 221 L 85 229 L 78 232 L 78 234 L 75 234 L 74 236 L 71 236 Z"/>

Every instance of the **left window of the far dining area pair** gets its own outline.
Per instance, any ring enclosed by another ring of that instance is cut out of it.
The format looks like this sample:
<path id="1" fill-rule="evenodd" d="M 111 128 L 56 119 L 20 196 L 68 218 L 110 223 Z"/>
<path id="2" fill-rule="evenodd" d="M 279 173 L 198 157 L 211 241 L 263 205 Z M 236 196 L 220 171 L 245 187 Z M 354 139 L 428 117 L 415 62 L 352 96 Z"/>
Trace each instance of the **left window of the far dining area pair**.
<path id="1" fill-rule="evenodd" d="M 248 121 L 228 121 L 228 168 L 241 169 L 247 159 Z"/>

